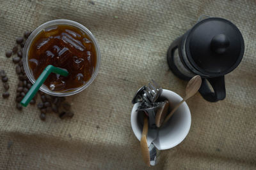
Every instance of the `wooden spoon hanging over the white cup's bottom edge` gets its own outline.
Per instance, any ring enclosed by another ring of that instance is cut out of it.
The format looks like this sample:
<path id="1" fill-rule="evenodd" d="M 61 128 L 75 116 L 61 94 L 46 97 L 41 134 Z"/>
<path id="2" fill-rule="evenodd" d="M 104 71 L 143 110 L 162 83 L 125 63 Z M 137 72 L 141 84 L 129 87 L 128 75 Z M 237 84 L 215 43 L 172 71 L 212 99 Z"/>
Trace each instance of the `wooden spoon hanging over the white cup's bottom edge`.
<path id="1" fill-rule="evenodd" d="M 148 167 L 150 167 L 150 155 L 148 150 L 147 134 L 148 134 L 148 117 L 144 115 L 144 124 L 143 124 L 141 139 L 140 139 L 140 148 L 141 148 L 141 153 L 142 153 L 142 157 L 145 164 Z"/>

